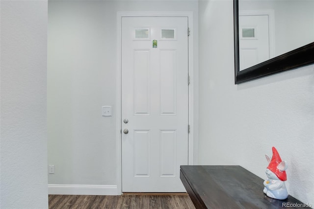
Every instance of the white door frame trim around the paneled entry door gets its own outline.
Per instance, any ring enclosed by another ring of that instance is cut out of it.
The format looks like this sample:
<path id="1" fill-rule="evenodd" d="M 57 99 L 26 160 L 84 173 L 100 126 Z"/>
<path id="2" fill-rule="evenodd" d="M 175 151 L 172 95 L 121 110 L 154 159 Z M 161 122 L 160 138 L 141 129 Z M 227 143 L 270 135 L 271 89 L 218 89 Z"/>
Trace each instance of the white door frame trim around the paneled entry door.
<path id="1" fill-rule="evenodd" d="M 193 48 L 193 12 L 117 12 L 117 70 L 116 70 L 116 147 L 117 147 L 117 195 L 122 194 L 122 143 L 121 143 L 121 29 L 122 17 L 187 17 L 190 35 L 188 38 L 188 74 L 190 84 L 188 87 L 188 122 L 190 132 L 188 134 L 188 164 L 193 165 L 194 161 L 194 48 Z M 187 34 L 187 28 L 186 28 Z M 187 82 L 187 81 L 186 81 Z M 187 131 L 187 130 L 186 130 Z"/>

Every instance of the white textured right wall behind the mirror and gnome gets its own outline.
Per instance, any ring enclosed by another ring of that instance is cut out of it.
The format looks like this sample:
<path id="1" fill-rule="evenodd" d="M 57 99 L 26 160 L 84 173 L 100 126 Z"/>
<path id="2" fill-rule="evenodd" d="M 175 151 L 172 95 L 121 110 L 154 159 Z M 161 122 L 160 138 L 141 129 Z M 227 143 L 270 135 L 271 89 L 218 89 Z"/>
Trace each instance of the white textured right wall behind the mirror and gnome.
<path id="1" fill-rule="evenodd" d="M 289 194 L 313 205 L 314 65 L 235 85 L 233 1 L 200 1 L 199 26 L 199 163 L 265 179 L 275 146 Z"/>

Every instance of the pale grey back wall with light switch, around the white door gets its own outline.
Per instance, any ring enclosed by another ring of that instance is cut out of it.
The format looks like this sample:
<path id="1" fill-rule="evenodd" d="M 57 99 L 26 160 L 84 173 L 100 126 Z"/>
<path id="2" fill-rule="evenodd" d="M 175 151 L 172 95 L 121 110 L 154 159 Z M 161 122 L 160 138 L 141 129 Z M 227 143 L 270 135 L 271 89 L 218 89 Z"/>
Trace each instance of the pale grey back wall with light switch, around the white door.
<path id="1" fill-rule="evenodd" d="M 49 1 L 48 10 L 49 183 L 116 185 L 117 12 L 193 11 L 197 37 L 198 1 Z"/>

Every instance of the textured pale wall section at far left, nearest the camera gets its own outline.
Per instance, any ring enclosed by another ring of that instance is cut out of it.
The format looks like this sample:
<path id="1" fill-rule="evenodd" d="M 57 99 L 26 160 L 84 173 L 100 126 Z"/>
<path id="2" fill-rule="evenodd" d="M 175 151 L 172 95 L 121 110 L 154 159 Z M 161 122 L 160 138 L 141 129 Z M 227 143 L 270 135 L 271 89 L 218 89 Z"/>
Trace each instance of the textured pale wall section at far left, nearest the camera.
<path id="1" fill-rule="evenodd" d="M 1 209 L 48 208 L 47 1 L 0 1 Z"/>

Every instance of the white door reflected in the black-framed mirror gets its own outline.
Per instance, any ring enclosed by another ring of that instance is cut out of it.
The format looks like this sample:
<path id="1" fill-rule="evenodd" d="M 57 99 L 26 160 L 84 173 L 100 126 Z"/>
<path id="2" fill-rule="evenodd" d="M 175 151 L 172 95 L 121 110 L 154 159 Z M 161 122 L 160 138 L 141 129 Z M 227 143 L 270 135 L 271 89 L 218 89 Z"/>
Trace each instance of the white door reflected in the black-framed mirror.
<path id="1" fill-rule="evenodd" d="M 268 15 L 239 16 L 240 70 L 269 59 Z"/>

